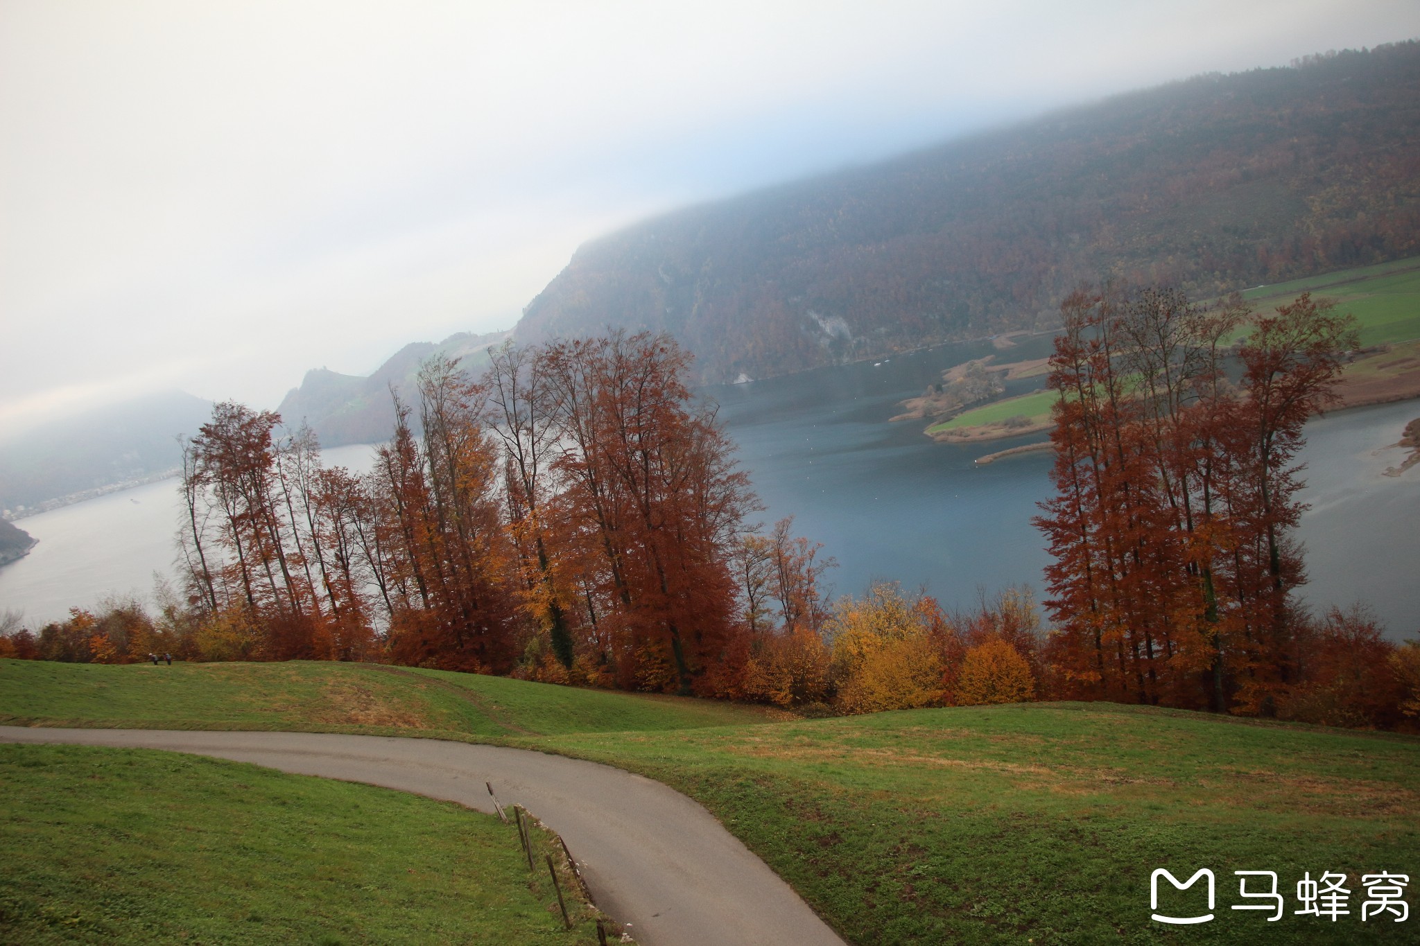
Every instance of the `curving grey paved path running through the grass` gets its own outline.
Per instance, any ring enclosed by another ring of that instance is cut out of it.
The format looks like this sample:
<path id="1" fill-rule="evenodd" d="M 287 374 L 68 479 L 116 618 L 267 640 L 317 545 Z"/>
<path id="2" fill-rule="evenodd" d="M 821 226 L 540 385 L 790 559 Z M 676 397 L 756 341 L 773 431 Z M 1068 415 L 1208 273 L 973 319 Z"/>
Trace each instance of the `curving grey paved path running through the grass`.
<path id="1" fill-rule="evenodd" d="M 842 946 L 703 807 L 659 781 L 579 759 L 436 739 L 298 732 L 0 726 L 3 742 L 170 749 L 413 791 L 493 811 L 484 781 L 562 835 L 596 905 L 643 946 Z"/>

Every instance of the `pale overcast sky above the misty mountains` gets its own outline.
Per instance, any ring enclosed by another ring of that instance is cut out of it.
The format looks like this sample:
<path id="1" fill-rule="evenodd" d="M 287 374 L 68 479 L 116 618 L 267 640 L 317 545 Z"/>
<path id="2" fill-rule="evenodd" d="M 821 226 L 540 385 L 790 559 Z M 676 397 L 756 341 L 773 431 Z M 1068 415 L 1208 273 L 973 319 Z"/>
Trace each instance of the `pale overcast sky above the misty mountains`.
<path id="1" fill-rule="evenodd" d="M 0 438 L 275 407 L 660 211 L 1411 37 L 1414 0 L 0 0 Z"/>

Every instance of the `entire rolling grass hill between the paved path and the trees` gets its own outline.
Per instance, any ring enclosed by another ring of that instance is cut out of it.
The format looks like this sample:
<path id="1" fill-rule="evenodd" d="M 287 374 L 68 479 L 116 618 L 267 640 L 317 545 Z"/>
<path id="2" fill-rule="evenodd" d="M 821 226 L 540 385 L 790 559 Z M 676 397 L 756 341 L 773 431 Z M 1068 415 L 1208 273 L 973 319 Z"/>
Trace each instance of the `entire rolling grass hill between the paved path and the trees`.
<path id="1" fill-rule="evenodd" d="M 180 712 L 145 709 L 163 694 Z M 1362 923 L 1359 903 L 1362 874 L 1420 874 L 1414 738 L 1109 703 L 771 722 L 430 671 L 0 662 L 0 722 L 128 718 L 449 735 L 616 764 L 706 804 L 858 943 L 1413 940 Z M 1203 867 L 1217 920 L 1153 923 L 1152 871 Z M 1238 869 L 1277 871 L 1287 916 L 1228 909 Z M 1323 871 L 1353 891 L 1336 923 L 1291 913 L 1302 872 Z"/>

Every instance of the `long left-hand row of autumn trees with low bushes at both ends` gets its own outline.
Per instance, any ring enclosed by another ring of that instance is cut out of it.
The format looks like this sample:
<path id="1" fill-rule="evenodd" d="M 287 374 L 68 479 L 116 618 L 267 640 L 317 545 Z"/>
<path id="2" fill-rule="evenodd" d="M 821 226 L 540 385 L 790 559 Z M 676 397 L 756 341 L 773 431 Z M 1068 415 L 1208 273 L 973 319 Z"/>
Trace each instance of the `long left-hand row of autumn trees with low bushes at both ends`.
<path id="1" fill-rule="evenodd" d="M 504 345 L 477 380 L 436 357 L 364 475 L 271 411 L 217 404 L 183 451 L 182 587 L 155 617 L 112 601 L 3 647 L 381 660 L 852 712 L 1034 695 L 1034 637 L 958 633 L 895 586 L 832 606 L 821 546 L 751 522 L 689 360 L 646 333 Z"/>

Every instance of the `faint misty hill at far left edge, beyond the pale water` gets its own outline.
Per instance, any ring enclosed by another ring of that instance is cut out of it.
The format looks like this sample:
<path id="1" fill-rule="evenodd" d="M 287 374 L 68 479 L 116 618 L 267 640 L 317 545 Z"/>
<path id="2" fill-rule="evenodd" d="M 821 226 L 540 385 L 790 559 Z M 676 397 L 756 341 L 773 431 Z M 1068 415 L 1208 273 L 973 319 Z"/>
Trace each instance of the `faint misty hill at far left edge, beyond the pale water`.
<path id="1" fill-rule="evenodd" d="M 148 394 L 45 424 L 0 443 L 0 508 L 33 511 L 180 462 L 178 434 L 196 434 L 212 401 L 185 391 Z"/>

